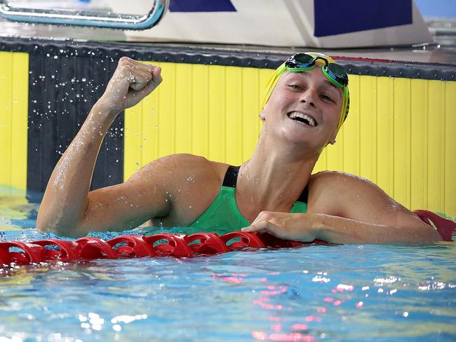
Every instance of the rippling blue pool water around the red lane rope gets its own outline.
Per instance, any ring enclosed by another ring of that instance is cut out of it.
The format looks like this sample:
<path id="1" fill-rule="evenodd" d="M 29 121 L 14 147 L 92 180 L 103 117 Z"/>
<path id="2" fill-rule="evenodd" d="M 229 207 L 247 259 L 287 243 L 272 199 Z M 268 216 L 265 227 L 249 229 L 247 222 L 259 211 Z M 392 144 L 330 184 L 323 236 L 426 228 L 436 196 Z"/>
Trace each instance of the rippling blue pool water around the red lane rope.
<path id="1" fill-rule="evenodd" d="M 0 196 L 0 240 L 55 238 L 36 210 Z M 455 260 L 438 242 L 7 267 L 0 341 L 455 341 Z"/>

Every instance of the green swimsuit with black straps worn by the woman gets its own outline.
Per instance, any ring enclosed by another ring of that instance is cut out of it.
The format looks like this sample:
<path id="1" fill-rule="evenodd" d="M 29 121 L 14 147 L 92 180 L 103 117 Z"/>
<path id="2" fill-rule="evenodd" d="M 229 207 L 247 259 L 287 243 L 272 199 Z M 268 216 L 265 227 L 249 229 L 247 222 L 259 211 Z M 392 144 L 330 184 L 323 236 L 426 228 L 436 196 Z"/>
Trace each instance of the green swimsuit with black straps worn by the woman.
<path id="1" fill-rule="evenodd" d="M 199 231 L 217 231 L 217 233 L 228 233 L 240 231 L 241 228 L 250 226 L 250 223 L 242 216 L 236 205 L 235 191 L 236 181 L 239 174 L 239 166 L 229 166 L 223 180 L 220 193 L 213 203 L 201 216 L 189 225 Z M 307 187 L 300 198 L 293 204 L 290 212 L 307 212 Z"/>

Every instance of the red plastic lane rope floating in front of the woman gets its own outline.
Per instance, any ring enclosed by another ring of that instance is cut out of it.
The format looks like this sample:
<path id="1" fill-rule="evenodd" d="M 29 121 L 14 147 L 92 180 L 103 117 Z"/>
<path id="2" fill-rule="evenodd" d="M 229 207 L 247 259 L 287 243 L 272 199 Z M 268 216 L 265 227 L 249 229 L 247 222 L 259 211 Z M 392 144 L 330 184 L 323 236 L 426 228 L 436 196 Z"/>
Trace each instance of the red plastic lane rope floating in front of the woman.
<path id="1" fill-rule="evenodd" d="M 456 223 L 427 210 L 416 210 L 422 221 L 432 226 L 443 240 L 451 241 Z M 306 242 L 307 243 L 307 242 Z M 311 243 L 328 245 L 321 240 Z M 308 243 L 307 243 L 308 244 Z M 159 233 L 155 235 L 121 235 L 111 240 L 80 238 L 75 241 L 46 239 L 34 242 L 0 242 L 0 268 L 11 264 L 27 265 L 46 261 L 126 259 L 136 257 L 199 257 L 239 249 L 295 247 L 304 242 L 276 238 L 269 233 L 233 231 L 224 235 Z"/>

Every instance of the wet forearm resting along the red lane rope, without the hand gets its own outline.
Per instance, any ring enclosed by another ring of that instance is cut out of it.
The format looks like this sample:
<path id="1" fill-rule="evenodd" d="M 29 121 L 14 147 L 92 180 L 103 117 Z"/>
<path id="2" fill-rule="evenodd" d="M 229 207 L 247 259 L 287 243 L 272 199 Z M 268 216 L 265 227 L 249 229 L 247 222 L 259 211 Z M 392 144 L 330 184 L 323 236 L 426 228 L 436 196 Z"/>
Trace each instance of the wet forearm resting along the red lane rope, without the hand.
<path id="1" fill-rule="evenodd" d="M 408 225 L 370 224 L 326 214 L 312 215 L 316 238 L 333 243 L 423 243 L 441 240 L 431 226 L 417 221 Z"/>

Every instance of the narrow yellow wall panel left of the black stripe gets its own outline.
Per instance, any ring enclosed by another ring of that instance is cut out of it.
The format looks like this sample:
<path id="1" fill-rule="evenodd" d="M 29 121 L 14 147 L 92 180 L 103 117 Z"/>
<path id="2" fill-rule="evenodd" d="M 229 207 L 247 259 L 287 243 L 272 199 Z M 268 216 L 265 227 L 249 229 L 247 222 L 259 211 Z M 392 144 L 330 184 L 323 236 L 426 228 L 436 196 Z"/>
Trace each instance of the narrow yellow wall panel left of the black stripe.
<path id="1" fill-rule="evenodd" d="M 29 55 L 0 52 L 0 185 L 27 188 Z"/>

